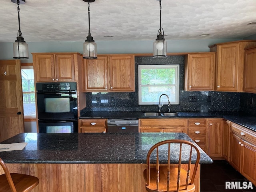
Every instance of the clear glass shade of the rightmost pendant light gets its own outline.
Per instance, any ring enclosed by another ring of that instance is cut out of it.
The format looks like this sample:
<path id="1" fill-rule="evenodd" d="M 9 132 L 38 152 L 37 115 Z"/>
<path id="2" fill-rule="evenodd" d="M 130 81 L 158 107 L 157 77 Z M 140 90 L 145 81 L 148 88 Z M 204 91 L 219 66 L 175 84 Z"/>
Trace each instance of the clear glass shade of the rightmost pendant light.
<path id="1" fill-rule="evenodd" d="M 167 42 L 165 39 L 156 39 L 153 44 L 153 57 L 166 57 L 167 55 Z"/>

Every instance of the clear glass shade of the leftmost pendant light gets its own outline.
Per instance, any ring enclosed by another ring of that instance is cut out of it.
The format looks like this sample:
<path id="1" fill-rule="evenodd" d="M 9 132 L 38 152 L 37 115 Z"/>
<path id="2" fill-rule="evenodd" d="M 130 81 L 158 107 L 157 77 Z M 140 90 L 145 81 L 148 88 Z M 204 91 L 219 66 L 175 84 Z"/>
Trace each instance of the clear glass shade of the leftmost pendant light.
<path id="1" fill-rule="evenodd" d="M 23 41 L 16 40 L 13 43 L 13 58 L 14 59 L 29 59 L 28 44 L 26 44 L 26 42 L 24 40 Z"/>

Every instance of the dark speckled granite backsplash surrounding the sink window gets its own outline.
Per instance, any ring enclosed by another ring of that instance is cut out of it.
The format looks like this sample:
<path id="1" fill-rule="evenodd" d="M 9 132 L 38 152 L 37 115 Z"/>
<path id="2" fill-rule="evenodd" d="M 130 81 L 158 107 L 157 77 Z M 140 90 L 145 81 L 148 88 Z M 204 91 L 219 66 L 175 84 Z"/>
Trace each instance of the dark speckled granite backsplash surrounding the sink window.
<path id="1" fill-rule="evenodd" d="M 166 58 L 135 57 L 135 92 L 98 92 L 86 93 L 87 111 L 157 111 L 158 105 L 138 105 L 138 65 L 180 64 L 180 104 L 172 105 L 171 111 L 244 111 L 255 114 L 256 94 L 215 91 L 184 91 L 184 56 Z M 189 96 L 196 96 L 196 102 L 189 102 Z M 100 102 L 97 102 L 100 98 Z M 248 100 L 253 104 L 248 111 Z M 112 100 L 112 102 L 111 102 Z M 162 111 L 168 111 L 163 106 Z"/>

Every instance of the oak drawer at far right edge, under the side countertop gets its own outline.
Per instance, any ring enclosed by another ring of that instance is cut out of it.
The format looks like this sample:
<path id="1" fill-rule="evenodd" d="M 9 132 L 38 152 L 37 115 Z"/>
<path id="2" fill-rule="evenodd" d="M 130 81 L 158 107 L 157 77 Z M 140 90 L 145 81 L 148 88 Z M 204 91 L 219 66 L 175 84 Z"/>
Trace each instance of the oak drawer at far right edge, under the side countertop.
<path id="1" fill-rule="evenodd" d="M 233 133 L 239 135 L 240 138 L 243 140 L 249 140 L 252 141 L 253 144 L 256 144 L 256 133 L 253 131 L 248 130 L 247 128 L 244 128 L 238 124 L 232 123 L 231 130 Z"/>

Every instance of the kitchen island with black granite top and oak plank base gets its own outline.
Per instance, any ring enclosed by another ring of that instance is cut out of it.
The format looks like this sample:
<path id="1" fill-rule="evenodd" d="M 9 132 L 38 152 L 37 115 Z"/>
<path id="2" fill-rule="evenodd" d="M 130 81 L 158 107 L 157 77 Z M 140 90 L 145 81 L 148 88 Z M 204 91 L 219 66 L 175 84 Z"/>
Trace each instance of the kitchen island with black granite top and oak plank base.
<path id="1" fill-rule="evenodd" d="M 155 143 L 167 139 L 192 141 L 184 133 L 22 133 L 1 144 L 28 142 L 27 146 L 19 151 L 0 152 L 0 157 L 10 172 L 39 178 L 32 192 L 145 192 L 142 172 L 147 152 Z M 212 163 L 201 149 L 200 154 L 200 164 Z M 176 162 L 174 155 L 172 166 Z M 186 160 L 183 166 L 187 166 Z M 199 192 L 200 166 L 195 184 Z"/>

